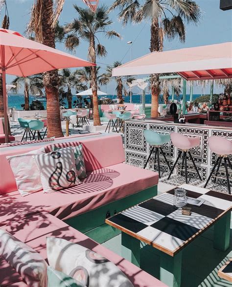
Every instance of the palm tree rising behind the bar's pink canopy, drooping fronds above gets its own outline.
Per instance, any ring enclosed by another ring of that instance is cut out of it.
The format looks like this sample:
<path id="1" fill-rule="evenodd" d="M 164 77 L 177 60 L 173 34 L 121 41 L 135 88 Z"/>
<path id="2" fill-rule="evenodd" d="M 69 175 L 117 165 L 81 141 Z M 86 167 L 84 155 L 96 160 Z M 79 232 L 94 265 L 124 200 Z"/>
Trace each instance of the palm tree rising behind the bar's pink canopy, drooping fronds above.
<path id="1" fill-rule="evenodd" d="M 142 2 L 142 3 L 141 3 Z M 176 36 L 185 42 L 185 24 L 198 24 L 202 12 L 195 1 L 190 0 L 116 0 L 110 10 L 119 8 L 119 20 L 123 25 L 128 22 L 140 23 L 150 20 L 150 52 L 163 49 L 166 37 L 171 41 Z M 152 106 L 151 117 L 158 116 L 160 80 L 158 74 L 151 75 Z"/>

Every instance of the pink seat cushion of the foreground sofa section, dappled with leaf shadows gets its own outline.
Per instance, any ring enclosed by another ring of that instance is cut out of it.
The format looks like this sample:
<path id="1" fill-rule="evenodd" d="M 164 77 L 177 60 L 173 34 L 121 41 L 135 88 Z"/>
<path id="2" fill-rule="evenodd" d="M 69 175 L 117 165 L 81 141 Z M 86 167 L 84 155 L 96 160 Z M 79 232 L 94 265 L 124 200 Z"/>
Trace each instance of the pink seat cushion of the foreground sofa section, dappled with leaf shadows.
<path id="1" fill-rule="evenodd" d="M 39 252 L 44 259 L 47 258 L 46 237 L 60 237 L 89 248 L 114 262 L 136 287 L 166 287 L 165 284 L 145 271 L 142 271 L 136 265 L 126 261 L 114 252 L 46 212 L 27 216 L 19 223 L 13 222 L 11 225 L 4 227 L 4 229 Z"/>

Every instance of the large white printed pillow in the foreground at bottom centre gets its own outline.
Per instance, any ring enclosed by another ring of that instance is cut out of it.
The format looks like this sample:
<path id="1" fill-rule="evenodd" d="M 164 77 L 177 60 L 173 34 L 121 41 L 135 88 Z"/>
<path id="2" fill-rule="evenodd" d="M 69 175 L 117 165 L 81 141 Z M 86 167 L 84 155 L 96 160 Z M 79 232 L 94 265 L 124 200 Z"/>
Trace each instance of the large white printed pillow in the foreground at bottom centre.
<path id="1" fill-rule="evenodd" d="M 46 238 L 49 265 L 87 287 L 133 287 L 111 261 L 81 245 L 62 238 Z"/>

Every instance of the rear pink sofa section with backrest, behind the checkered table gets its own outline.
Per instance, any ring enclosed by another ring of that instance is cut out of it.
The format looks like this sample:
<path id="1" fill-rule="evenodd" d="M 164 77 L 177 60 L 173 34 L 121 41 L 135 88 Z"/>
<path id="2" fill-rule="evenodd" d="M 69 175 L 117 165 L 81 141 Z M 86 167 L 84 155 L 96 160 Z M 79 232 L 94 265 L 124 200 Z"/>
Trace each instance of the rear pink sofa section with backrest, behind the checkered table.
<path id="1" fill-rule="evenodd" d="M 159 179 L 157 173 L 123 163 L 125 158 L 120 135 L 82 137 L 78 142 L 69 144 L 76 145 L 77 143 L 83 144 L 88 172 L 88 177 L 82 181 L 82 184 L 48 194 L 38 191 L 26 197 L 22 197 L 16 190 L 14 176 L 5 156 L 28 152 L 33 147 L 27 147 L 27 149 L 22 146 L 14 147 L 14 149 L 6 148 L 5 153 L 0 155 L 0 160 L 3 163 L 0 166 L 0 192 L 5 193 L 0 196 L 0 226 L 10 223 L 12 220 L 20 220 L 31 212 L 42 210 L 62 220 L 67 220 L 106 206 L 106 210 L 103 212 L 105 216 L 109 203 L 148 188 L 154 187 L 157 190 Z M 62 147 L 67 146 L 68 143 L 63 141 L 55 144 Z M 34 148 L 39 147 L 41 144 Z M 49 146 L 47 149 L 49 151 Z M 0 153 L 2 150 L 5 149 L 0 149 Z M 12 190 L 15 191 L 9 193 Z M 155 189 L 151 196 L 154 195 Z M 102 216 L 102 224 L 104 219 Z"/>

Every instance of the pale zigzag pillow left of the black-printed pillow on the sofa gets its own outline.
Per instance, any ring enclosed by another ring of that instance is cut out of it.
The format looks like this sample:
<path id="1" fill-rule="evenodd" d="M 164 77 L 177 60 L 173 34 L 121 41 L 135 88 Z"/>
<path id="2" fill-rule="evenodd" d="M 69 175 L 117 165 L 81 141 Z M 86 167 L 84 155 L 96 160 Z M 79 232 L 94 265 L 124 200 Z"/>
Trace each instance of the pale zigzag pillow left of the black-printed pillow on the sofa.
<path id="1" fill-rule="evenodd" d="M 26 154 L 6 157 L 15 176 L 18 190 L 22 196 L 43 189 L 40 171 L 33 156 L 45 153 L 45 148 Z"/>

